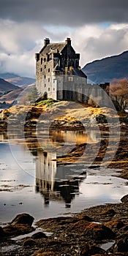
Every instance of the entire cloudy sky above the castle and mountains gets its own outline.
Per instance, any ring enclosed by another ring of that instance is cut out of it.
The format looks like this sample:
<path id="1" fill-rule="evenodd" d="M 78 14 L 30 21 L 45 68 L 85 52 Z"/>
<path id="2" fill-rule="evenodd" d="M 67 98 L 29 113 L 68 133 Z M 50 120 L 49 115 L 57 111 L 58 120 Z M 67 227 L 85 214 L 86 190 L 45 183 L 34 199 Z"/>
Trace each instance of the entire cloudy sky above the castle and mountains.
<path id="1" fill-rule="evenodd" d="M 127 0 L 1 0 L 0 73 L 34 78 L 43 39 L 80 53 L 80 66 L 128 50 Z"/>

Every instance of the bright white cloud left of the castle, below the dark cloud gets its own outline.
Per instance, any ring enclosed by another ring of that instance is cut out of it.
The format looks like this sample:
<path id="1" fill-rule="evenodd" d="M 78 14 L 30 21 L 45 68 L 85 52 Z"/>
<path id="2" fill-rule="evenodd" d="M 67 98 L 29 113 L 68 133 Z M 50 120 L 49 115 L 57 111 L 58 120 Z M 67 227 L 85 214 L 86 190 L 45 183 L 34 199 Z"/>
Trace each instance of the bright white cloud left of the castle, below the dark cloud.
<path id="1" fill-rule="evenodd" d="M 34 53 L 49 33 L 33 22 L 0 20 L 0 72 L 35 76 Z"/>

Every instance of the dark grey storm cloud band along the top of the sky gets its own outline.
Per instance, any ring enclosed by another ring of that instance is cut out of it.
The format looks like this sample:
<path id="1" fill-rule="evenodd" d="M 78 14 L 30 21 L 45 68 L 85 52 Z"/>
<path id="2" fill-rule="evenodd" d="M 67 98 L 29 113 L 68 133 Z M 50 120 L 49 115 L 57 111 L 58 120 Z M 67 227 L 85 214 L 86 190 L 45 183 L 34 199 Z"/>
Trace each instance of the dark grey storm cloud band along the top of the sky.
<path id="1" fill-rule="evenodd" d="M 1 0 L 0 18 L 53 25 L 128 21 L 127 0 Z"/>

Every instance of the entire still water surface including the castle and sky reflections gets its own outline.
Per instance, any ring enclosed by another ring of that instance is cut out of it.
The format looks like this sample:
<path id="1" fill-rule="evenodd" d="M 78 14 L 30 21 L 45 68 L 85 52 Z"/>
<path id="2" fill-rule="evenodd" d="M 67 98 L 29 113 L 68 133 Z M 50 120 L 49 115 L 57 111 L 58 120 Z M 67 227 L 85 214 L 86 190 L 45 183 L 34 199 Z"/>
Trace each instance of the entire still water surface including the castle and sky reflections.
<path id="1" fill-rule="evenodd" d="M 0 141 L 1 223 L 23 212 L 35 221 L 72 214 L 120 202 L 128 192 L 125 180 L 112 176 L 118 170 L 89 167 L 99 151 L 97 131 L 53 131 L 49 136 L 42 131 L 38 138 L 31 132 L 12 133 Z"/>

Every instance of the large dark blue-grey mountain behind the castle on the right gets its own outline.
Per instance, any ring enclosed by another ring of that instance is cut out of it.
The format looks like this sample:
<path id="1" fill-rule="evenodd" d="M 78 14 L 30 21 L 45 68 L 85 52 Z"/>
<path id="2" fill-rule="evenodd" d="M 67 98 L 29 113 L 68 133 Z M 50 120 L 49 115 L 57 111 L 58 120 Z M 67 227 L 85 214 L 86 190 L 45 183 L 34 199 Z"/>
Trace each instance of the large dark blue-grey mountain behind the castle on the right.
<path id="1" fill-rule="evenodd" d="M 92 61 L 83 67 L 87 78 L 94 83 L 110 82 L 114 78 L 128 79 L 128 50 L 116 56 Z"/>

